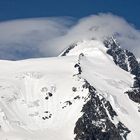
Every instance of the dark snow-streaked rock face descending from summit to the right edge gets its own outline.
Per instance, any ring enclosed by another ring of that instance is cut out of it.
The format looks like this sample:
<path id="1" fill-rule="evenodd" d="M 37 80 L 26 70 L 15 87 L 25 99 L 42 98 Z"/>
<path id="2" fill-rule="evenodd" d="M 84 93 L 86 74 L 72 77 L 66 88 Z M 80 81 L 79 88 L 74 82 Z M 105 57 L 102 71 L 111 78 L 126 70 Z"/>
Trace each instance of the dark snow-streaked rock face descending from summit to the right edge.
<path id="1" fill-rule="evenodd" d="M 140 103 L 140 65 L 136 57 L 130 51 L 120 48 L 113 38 L 105 40 L 104 45 L 108 48 L 107 53 L 113 57 L 115 64 L 135 76 L 133 87 L 126 93 L 132 101 Z"/>

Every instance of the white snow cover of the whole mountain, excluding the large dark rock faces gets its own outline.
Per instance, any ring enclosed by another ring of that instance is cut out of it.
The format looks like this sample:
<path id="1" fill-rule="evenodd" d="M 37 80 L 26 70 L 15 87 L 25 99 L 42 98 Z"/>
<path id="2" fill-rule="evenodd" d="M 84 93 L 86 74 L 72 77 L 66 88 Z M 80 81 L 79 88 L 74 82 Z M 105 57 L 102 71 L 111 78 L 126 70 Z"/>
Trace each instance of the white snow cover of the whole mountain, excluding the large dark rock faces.
<path id="1" fill-rule="evenodd" d="M 104 106 L 107 119 L 118 129 L 118 140 L 139 140 L 138 105 L 124 94 L 132 87 L 134 76 L 118 67 L 99 41 L 82 41 L 71 48 L 61 54 L 64 57 L 0 61 L 2 140 L 74 139 L 82 108 L 91 99 L 85 81 L 116 112 L 111 116 Z M 129 130 L 124 135 L 119 132 L 119 122 Z"/>

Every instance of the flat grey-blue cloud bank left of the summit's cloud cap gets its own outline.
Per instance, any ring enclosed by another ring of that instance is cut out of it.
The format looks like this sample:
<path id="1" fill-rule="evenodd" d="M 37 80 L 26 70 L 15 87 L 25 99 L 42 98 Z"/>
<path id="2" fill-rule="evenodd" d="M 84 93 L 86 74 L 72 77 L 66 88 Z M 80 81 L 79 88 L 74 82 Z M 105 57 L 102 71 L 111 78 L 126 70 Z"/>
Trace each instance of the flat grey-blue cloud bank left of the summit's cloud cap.
<path id="1" fill-rule="evenodd" d="M 66 34 L 71 18 L 37 18 L 0 23 L 0 59 L 51 56 L 43 42 Z"/>

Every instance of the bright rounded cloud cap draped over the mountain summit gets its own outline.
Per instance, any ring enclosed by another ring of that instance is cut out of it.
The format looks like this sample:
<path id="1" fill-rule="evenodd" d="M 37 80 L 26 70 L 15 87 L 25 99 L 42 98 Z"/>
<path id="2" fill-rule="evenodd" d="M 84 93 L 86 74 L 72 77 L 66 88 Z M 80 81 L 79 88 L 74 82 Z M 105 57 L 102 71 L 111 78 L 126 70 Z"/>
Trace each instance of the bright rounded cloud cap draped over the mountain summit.
<path id="1" fill-rule="evenodd" d="M 53 46 L 67 47 L 70 43 L 83 39 L 95 38 L 103 40 L 107 36 L 115 36 L 123 48 L 140 56 L 140 31 L 125 19 L 112 14 L 99 14 L 82 18 L 65 36 L 56 38 Z"/>

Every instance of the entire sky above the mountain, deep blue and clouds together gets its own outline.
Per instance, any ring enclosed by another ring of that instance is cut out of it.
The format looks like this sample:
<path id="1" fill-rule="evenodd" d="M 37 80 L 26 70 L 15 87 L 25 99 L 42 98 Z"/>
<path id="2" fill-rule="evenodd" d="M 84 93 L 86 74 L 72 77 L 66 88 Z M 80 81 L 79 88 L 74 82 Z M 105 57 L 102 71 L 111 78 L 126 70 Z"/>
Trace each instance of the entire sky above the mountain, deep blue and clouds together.
<path id="1" fill-rule="evenodd" d="M 139 0 L 0 0 L 0 59 L 57 56 L 75 41 L 116 33 L 140 57 L 139 13 Z"/>

